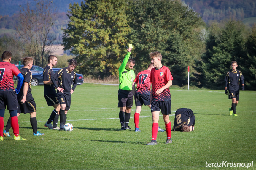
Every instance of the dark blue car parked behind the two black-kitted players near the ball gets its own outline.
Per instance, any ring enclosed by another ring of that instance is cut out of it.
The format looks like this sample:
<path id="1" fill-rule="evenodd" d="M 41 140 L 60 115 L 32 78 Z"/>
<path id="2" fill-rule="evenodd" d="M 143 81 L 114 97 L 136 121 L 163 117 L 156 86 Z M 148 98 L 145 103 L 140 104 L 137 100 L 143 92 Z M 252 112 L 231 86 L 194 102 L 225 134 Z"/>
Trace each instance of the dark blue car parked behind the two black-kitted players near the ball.
<path id="1" fill-rule="evenodd" d="M 59 71 L 60 68 L 53 68 L 53 72 Z M 77 85 L 81 85 L 84 83 L 84 76 L 82 74 L 77 74 Z M 37 86 L 37 85 L 44 85 L 43 82 L 43 72 L 40 73 L 34 73 L 32 74 L 32 80 L 31 80 L 31 85 Z"/>

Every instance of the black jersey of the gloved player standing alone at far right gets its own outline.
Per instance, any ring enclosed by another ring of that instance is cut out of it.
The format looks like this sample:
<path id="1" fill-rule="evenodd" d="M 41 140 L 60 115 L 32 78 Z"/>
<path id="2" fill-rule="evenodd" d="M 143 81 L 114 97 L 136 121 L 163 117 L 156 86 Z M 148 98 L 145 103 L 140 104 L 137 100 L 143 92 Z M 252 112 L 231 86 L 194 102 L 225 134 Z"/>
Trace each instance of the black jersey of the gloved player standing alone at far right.
<path id="1" fill-rule="evenodd" d="M 242 75 L 242 72 L 239 70 L 232 71 L 230 70 L 227 72 L 225 81 L 228 84 L 227 89 L 238 91 L 239 90 L 239 82 L 240 80 L 244 80 L 244 76 Z"/>

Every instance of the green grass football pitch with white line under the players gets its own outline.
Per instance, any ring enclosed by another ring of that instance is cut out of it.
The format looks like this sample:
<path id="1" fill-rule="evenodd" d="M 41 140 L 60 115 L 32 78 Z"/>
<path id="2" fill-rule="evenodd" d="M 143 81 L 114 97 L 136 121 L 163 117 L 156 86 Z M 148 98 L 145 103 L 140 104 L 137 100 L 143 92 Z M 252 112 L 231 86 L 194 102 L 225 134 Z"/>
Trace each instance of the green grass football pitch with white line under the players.
<path id="1" fill-rule="evenodd" d="M 231 100 L 224 90 L 171 89 L 171 124 L 178 108 L 190 108 L 196 116 L 195 131 L 172 132 L 173 142 L 167 145 L 166 132 L 158 132 L 158 145 L 153 146 L 146 145 L 152 128 L 147 106 L 140 114 L 141 132 L 120 130 L 117 91 L 118 86 L 78 85 L 66 121 L 74 130 L 65 132 L 44 127 L 53 107 L 44 100 L 43 86 L 32 87 L 38 130 L 45 135 L 33 136 L 29 114 L 21 114 L 20 135 L 27 140 L 14 141 L 10 130 L 12 137 L 0 142 L 0 169 L 247 169 L 252 161 L 248 169 L 256 169 L 255 91 L 241 91 L 239 116 L 234 117 L 228 115 Z M 134 111 L 135 106 L 132 129 Z M 8 117 L 6 111 L 5 123 Z M 159 120 L 165 129 L 162 116 Z M 206 167 L 206 162 L 216 166 L 222 161 L 244 167 Z"/>

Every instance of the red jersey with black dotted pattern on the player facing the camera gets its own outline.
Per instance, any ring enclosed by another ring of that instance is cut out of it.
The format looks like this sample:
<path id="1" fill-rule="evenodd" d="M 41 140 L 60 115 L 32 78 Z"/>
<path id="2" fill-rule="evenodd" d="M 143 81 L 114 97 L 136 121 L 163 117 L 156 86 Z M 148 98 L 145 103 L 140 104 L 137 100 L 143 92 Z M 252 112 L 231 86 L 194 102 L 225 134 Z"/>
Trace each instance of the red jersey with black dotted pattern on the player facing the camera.
<path id="1" fill-rule="evenodd" d="M 171 100 L 170 89 L 164 89 L 160 95 L 155 92 L 167 84 L 169 80 L 173 80 L 170 69 L 162 66 L 160 69 L 152 68 L 150 82 L 152 83 L 152 101 L 168 101 Z"/>

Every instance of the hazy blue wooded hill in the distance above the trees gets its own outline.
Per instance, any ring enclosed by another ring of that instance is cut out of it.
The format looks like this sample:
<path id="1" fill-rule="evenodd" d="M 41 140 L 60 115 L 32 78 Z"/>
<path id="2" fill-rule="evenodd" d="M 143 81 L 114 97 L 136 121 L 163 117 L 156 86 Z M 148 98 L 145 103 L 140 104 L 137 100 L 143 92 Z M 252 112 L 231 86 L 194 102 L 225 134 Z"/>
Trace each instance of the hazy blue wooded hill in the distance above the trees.
<path id="1" fill-rule="evenodd" d="M 57 20 L 54 25 L 53 34 L 57 41 L 62 41 L 63 31 L 66 28 L 69 4 L 78 3 L 84 0 L 52 0 L 53 6 L 57 8 Z M 246 25 L 253 26 L 256 23 L 256 0 L 183 0 L 183 2 L 198 12 L 206 23 L 221 21 L 223 19 L 236 19 L 243 21 Z M 21 7 L 36 6 L 34 0 L 0 0 L 0 36 L 12 34 L 15 26 L 19 23 L 18 13 Z"/>

